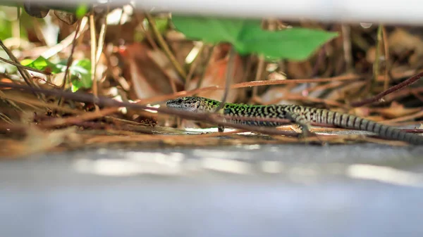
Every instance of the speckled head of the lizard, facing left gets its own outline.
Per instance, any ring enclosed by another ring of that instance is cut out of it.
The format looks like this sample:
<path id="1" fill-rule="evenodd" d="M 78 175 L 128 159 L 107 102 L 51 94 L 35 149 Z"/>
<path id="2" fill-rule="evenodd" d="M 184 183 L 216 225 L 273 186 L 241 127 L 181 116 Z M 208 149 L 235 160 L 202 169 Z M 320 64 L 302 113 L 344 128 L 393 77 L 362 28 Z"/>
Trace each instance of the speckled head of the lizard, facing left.
<path id="1" fill-rule="evenodd" d="M 168 108 L 200 113 L 212 111 L 218 105 L 219 101 L 197 96 L 179 97 L 166 102 Z"/>

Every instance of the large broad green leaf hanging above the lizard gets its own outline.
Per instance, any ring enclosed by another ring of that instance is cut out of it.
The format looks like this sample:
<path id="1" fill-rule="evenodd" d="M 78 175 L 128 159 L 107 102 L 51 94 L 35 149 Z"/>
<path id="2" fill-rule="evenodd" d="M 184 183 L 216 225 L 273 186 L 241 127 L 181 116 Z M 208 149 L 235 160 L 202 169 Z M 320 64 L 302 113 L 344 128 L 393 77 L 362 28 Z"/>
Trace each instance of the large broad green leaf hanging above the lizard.
<path id="1" fill-rule="evenodd" d="M 190 39 L 212 44 L 229 42 L 241 55 L 256 53 L 271 60 L 305 60 L 319 46 L 338 35 L 307 28 L 262 30 L 259 20 L 178 15 L 173 15 L 172 20 L 176 29 Z"/>

